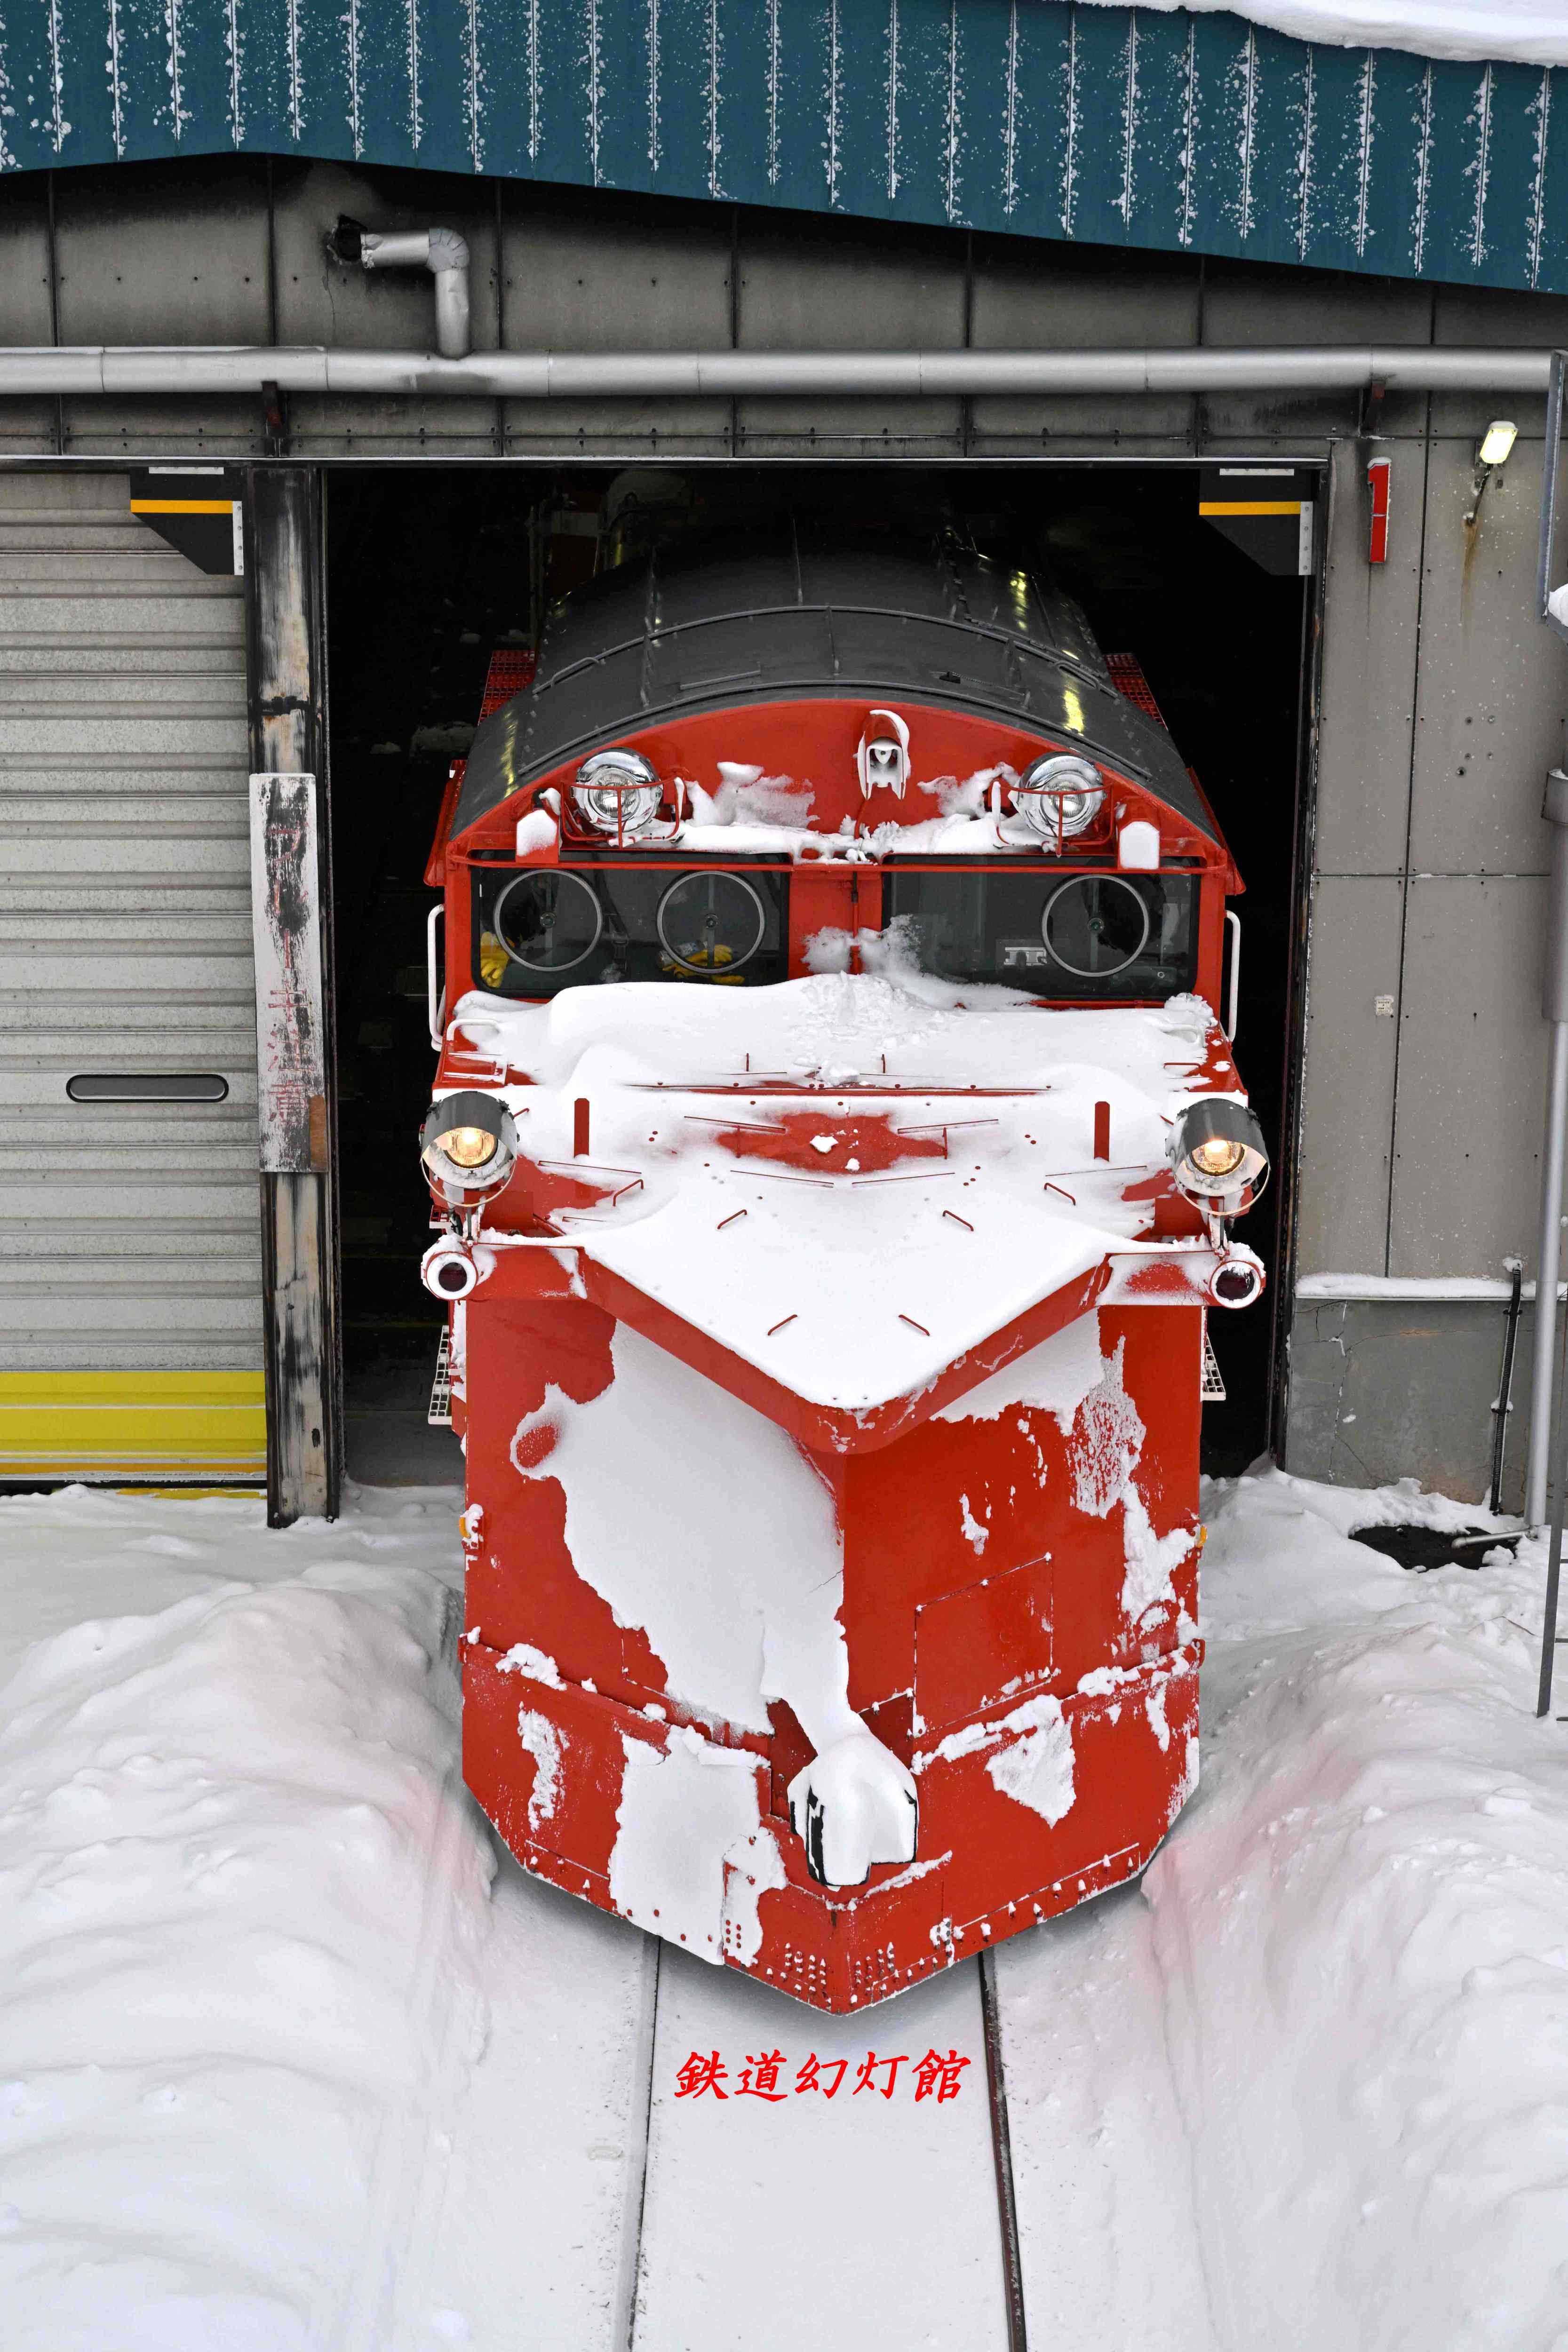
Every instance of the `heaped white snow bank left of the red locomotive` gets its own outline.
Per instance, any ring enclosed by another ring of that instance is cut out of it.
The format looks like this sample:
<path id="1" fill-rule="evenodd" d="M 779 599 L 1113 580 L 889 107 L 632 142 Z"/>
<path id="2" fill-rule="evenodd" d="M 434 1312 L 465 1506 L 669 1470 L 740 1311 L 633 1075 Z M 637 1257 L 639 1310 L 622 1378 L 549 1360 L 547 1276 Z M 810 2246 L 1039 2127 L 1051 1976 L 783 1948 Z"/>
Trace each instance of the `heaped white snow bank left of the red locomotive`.
<path id="1" fill-rule="evenodd" d="M 75 1489 L 0 1555 L 5 2347 L 381 2345 L 482 2025 L 451 1501 Z"/>

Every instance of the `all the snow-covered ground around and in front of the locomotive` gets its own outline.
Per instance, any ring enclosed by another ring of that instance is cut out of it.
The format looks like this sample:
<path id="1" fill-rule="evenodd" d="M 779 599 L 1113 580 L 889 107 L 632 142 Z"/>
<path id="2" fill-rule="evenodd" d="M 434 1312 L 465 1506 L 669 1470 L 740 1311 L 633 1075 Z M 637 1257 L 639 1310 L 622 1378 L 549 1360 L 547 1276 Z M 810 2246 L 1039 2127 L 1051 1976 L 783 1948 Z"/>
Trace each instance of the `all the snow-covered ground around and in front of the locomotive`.
<path id="1" fill-rule="evenodd" d="M 1211 1489 L 1204 1785 L 997 1952 L 1041 2343 L 1568 2347 L 1542 1562 L 1406 1573 L 1368 1517 L 1476 1515 Z M 2 2352 L 999 2347 L 973 1964 L 846 2030 L 491 1882 L 456 1576 L 451 1494 L 0 1503 Z M 867 2044 L 964 2093 L 677 2096 Z"/>

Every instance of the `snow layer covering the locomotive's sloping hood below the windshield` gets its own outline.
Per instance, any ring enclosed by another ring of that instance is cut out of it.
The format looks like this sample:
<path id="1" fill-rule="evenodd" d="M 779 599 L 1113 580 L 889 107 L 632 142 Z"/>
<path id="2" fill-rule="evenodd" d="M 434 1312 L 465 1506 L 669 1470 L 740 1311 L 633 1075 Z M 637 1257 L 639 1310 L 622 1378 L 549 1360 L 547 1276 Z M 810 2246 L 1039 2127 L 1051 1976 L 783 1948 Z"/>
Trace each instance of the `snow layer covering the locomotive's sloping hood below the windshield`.
<path id="1" fill-rule="evenodd" d="M 917 1395 L 1147 1244 L 1166 1122 L 1197 1091 L 1239 1091 L 1199 997 L 1053 1011 L 919 974 L 468 995 L 456 1028 L 527 1073 L 498 1089 L 527 1162 L 597 1190 L 552 1207 L 552 1230 L 842 1411 Z M 444 1080 L 463 1084 L 451 1063 Z M 574 1160 L 578 1101 L 590 1155 Z"/>

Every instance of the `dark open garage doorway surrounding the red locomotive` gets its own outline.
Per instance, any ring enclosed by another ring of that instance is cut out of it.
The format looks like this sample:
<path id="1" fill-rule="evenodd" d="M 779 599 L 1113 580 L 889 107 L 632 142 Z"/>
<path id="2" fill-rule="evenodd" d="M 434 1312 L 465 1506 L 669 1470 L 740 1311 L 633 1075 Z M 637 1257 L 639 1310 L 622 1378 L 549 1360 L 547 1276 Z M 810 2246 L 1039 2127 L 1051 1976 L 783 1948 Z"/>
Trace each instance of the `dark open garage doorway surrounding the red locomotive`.
<path id="1" fill-rule="evenodd" d="M 491 654 L 527 654 L 545 607 L 693 532 L 797 517 L 867 543 L 945 524 L 1009 567 L 1048 569 L 1107 654 L 1131 654 L 1246 880 L 1237 1061 L 1279 1178 L 1241 1237 L 1274 1275 L 1288 1214 L 1281 1129 L 1293 1051 L 1295 842 L 1309 583 L 1262 572 L 1199 517 L 1192 466 L 355 468 L 327 501 L 339 1181 L 348 1475 L 456 1479 L 428 1425 L 442 1308 L 418 1282 L 425 858 Z M 1279 1287 L 1272 1291 L 1279 1303 Z M 1269 1442 L 1276 1319 L 1211 1317 L 1225 1402 L 1204 1468 Z"/>

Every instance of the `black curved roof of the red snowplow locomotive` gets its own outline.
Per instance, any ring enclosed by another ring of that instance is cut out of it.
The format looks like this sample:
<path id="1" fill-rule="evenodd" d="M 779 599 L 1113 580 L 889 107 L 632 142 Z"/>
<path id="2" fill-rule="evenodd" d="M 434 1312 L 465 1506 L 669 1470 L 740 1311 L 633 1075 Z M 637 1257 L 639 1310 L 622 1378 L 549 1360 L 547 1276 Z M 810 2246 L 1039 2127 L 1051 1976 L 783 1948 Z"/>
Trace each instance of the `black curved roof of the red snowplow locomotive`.
<path id="1" fill-rule="evenodd" d="M 534 684 L 473 741 L 451 835 L 654 720 L 790 694 L 917 699 L 1039 727 L 1215 837 L 1175 743 L 1117 691 L 1072 597 L 947 543 L 846 546 L 795 529 L 656 550 L 555 604 Z"/>

